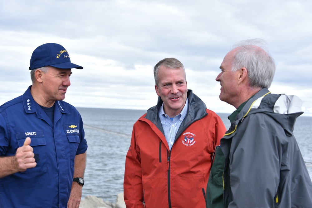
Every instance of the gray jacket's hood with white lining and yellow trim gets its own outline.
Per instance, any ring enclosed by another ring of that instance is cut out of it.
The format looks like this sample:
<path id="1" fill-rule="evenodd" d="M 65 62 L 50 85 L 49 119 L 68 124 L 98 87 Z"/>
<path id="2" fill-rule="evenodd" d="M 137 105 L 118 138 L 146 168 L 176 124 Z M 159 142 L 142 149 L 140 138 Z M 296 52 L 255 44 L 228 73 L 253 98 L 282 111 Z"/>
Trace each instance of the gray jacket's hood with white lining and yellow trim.
<path id="1" fill-rule="evenodd" d="M 267 88 L 263 88 L 246 103 L 235 123 L 237 125 L 248 115 L 264 113 L 279 123 L 286 134 L 292 135 L 296 118 L 303 113 L 301 106 L 302 100 L 295 95 L 271 94 Z"/>

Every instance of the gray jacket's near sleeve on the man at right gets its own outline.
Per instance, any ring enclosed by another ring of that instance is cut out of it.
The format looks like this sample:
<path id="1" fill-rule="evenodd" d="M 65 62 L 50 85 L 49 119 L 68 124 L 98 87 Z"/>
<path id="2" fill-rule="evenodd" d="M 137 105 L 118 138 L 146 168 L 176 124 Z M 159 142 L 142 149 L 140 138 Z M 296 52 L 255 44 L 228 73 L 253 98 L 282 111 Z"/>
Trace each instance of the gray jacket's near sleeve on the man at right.
<path id="1" fill-rule="evenodd" d="M 281 137 L 285 132 L 265 114 L 251 114 L 238 124 L 229 155 L 233 207 L 273 207 L 279 185 Z"/>

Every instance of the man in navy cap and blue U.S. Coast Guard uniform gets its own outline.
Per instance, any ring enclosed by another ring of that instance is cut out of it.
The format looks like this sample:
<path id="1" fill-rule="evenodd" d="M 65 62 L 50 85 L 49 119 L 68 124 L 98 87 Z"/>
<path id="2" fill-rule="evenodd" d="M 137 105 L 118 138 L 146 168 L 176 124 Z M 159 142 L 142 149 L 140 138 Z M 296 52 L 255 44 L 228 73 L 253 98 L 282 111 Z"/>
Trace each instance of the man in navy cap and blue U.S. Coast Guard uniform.
<path id="1" fill-rule="evenodd" d="M 0 106 L 0 207 L 79 207 L 87 143 L 70 86 L 67 50 L 47 43 L 30 59 L 32 86 Z"/>

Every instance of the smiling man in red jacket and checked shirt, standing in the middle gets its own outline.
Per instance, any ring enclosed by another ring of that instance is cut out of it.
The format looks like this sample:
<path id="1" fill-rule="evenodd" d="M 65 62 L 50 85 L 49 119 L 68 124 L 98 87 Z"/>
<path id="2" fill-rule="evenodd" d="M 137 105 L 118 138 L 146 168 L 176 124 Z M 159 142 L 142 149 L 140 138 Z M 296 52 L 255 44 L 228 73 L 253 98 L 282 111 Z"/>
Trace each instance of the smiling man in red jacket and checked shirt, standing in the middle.
<path id="1" fill-rule="evenodd" d="M 134 124 L 126 156 L 126 207 L 205 207 L 214 147 L 226 128 L 187 88 L 183 64 L 154 67 L 158 104 Z"/>

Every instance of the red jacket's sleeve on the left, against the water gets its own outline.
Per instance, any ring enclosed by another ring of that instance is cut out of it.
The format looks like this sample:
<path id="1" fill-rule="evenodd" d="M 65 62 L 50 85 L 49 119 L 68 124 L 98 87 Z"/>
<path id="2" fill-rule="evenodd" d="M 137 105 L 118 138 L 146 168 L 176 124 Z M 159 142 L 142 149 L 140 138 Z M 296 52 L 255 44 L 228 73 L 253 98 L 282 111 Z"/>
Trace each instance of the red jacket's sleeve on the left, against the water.
<path id="1" fill-rule="evenodd" d="M 124 168 L 124 202 L 127 208 L 143 208 L 143 185 L 140 154 L 136 147 L 135 125 Z"/>

